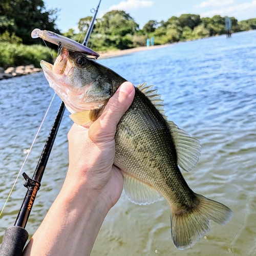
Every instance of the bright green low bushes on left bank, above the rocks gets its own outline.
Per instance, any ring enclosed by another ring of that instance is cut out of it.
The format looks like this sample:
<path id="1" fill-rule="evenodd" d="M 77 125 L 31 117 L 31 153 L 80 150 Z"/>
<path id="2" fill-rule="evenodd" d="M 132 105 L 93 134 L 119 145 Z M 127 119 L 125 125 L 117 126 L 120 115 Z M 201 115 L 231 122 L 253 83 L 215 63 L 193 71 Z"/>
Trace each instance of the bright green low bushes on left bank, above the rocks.
<path id="1" fill-rule="evenodd" d="M 57 53 L 53 52 L 53 55 L 56 56 Z M 53 57 L 45 46 L 0 42 L 0 67 L 4 69 L 30 64 L 40 68 L 40 60 L 42 59 L 53 62 Z"/>

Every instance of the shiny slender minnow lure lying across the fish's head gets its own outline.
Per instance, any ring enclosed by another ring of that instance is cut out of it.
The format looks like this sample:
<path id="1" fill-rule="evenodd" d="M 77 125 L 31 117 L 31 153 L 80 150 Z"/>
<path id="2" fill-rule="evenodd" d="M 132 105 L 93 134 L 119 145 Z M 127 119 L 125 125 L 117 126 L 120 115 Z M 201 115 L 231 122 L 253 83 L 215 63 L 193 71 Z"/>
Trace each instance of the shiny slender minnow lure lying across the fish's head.
<path id="1" fill-rule="evenodd" d="M 96 59 L 99 57 L 98 53 L 94 52 L 93 50 L 84 45 L 79 44 L 79 42 L 72 40 L 66 36 L 58 35 L 51 31 L 34 29 L 31 32 L 31 37 L 40 37 L 48 42 L 52 42 L 52 44 L 66 48 L 67 50 L 82 52 L 86 55 L 94 56 L 96 57 Z"/>

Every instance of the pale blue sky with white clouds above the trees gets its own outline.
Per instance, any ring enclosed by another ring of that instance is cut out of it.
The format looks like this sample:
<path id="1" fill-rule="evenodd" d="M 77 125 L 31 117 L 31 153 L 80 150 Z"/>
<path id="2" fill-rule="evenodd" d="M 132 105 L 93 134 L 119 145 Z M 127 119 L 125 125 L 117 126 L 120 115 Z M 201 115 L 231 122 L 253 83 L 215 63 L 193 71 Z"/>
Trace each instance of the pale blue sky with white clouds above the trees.
<path id="1" fill-rule="evenodd" d="M 46 8 L 59 9 L 57 28 L 67 32 L 77 31 L 80 18 L 92 16 L 91 9 L 99 0 L 44 0 Z M 166 21 L 181 14 L 200 14 L 201 17 L 214 15 L 235 17 L 239 21 L 256 18 L 256 0 L 101 0 L 97 17 L 111 10 L 124 10 L 135 19 L 140 29 L 148 20 Z"/>

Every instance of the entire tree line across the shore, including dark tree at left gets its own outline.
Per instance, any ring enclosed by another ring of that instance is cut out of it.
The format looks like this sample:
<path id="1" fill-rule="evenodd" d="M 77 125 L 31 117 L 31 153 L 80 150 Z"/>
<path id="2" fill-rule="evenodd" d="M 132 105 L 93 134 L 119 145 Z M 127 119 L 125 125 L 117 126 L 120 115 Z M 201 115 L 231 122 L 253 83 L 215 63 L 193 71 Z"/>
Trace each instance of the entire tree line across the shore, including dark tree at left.
<path id="1" fill-rule="evenodd" d="M 57 16 L 58 9 L 47 10 L 42 0 L 1 0 L 0 42 L 40 44 L 42 40 L 31 38 L 31 31 L 40 28 L 60 34 L 55 24 Z M 82 42 L 91 19 L 91 16 L 81 18 L 78 33 L 69 29 L 63 35 Z M 231 22 L 232 32 L 256 29 L 256 18 L 238 22 L 231 17 Z M 197 14 L 182 14 L 161 22 L 149 20 L 140 29 L 129 13 L 113 10 L 96 19 L 89 47 L 96 51 L 123 50 L 145 46 L 146 39 L 151 37 L 154 37 L 155 45 L 161 45 L 225 33 L 225 17 L 220 15 L 209 18 Z"/>

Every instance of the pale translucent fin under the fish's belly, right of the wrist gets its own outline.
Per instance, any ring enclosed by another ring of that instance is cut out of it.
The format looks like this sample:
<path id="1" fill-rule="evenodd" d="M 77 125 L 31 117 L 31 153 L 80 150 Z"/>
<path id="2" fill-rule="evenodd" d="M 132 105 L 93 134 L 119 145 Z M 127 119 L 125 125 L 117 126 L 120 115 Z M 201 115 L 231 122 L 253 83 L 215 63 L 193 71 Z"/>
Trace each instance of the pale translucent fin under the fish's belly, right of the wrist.
<path id="1" fill-rule="evenodd" d="M 151 204 L 159 200 L 159 193 L 151 186 L 140 182 L 136 178 L 123 174 L 123 188 L 125 195 L 135 204 Z"/>

